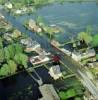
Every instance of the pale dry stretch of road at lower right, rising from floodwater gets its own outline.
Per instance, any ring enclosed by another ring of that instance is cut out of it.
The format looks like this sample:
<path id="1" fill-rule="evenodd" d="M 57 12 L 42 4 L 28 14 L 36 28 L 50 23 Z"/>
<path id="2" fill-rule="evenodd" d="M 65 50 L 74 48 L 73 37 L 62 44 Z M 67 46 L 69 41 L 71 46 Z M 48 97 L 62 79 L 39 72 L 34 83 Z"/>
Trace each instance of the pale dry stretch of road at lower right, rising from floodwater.
<path id="1" fill-rule="evenodd" d="M 84 69 L 80 69 L 80 65 L 75 64 L 74 61 L 71 62 L 71 60 L 72 59 L 70 59 L 70 62 L 67 60 L 67 63 L 70 63 L 70 65 L 73 64 L 73 67 L 69 65 L 67 67 L 70 68 L 76 74 L 77 78 L 80 79 L 84 87 L 86 87 L 89 90 L 89 92 L 96 98 L 96 100 L 98 100 L 98 88 L 96 88 L 95 84 L 87 76 L 86 71 Z"/>

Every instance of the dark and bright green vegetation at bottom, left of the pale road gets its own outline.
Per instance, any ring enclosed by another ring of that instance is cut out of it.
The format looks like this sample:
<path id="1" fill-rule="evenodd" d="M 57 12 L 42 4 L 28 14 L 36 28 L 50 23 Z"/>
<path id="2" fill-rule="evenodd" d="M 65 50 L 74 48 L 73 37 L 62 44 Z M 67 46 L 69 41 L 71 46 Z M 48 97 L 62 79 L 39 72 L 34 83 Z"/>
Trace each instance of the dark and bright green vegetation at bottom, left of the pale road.
<path id="1" fill-rule="evenodd" d="M 64 86 L 59 89 L 58 95 L 60 96 L 60 100 L 82 100 L 85 89 L 81 85 L 80 81 L 76 79 L 76 77 L 70 77 L 64 79 Z"/>

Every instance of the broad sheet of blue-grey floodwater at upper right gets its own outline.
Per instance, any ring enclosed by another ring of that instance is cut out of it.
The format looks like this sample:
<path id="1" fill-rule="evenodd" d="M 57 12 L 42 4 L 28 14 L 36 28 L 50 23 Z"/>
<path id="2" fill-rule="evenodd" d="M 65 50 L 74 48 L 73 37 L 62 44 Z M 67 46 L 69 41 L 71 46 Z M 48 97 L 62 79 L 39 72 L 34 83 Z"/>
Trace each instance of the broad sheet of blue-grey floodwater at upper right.
<path id="1" fill-rule="evenodd" d="M 92 27 L 92 33 L 98 32 L 98 4 L 95 2 L 53 4 L 40 8 L 35 15 L 17 17 L 20 23 L 26 19 L 36 19 L 42 16 L 46 23 L 57 24 L 64 28 L 64 34 L 58 34 L 56 38 L 63 42 L 69 36 L 75 36 L 78 32 Z"/>

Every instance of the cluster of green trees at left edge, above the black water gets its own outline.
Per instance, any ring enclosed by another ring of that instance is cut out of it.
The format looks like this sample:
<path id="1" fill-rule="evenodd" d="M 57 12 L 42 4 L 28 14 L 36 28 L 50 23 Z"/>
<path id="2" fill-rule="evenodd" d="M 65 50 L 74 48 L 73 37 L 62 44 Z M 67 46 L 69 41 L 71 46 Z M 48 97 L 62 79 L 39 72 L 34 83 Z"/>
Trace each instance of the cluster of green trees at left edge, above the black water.
<path id="1" fill-rule="evenodd" d="M 0 69 L 0 76 L 8 75 L 15 73 L 19 64 L 27 68 L 28 57 L 23 53 L 23 48 L 20 44 L 10 44 L 0 49 L 0 62 L 5 62 Z"/>

